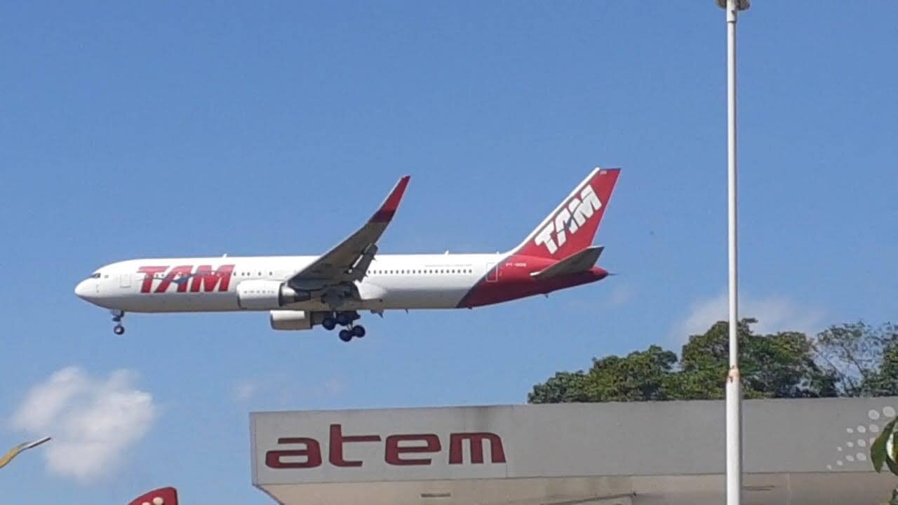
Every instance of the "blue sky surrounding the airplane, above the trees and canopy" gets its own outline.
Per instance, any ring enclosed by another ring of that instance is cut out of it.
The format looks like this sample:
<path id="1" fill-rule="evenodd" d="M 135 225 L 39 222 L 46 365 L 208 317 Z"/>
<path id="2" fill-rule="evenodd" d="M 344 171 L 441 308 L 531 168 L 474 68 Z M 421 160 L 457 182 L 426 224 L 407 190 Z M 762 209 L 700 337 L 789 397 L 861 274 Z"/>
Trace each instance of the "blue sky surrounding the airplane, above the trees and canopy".
<path id="1" fill-rule="evenodd" d="M 896 17 L 754 2 L 740 18 L 742 293 L 768 329 L 894 318 Z M 269 503 L 252 410 L 521 403 L 594 356 L 679 346 L 722 306 L 710 0 L 6 3 L 0 61 L 0 451 L 59 383 L 75 393 L 48 429 L 104 394 L 142 405 L 110 424 L 130 440 L 115 465 L 79 477 L 41 447 L 0 471 L 8 501 L 171 483 L 188 504 Z M 548 299 L 367 315 L 347 345 L 262 314 L 129 315 L 119 338 L 72 291 L 133 257 L 322 252 L 405 173 L 383 252 L 506 250 L 595 165 L 622 167 L 597 238 L 620 275 Z"/>

